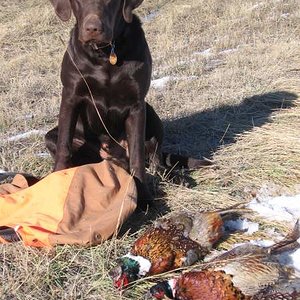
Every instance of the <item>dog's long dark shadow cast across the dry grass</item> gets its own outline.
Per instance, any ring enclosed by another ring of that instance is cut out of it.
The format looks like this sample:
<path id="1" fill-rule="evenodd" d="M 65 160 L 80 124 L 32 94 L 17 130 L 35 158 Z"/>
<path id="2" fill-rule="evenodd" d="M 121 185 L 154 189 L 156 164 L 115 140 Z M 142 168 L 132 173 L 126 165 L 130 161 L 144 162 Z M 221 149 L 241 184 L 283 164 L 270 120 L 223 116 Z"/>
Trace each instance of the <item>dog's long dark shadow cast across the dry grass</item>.
<path id="1" fill-rule="evenodd" d="M 292 107 L 297 98 L 294 93 L 275 91 L 245 98 L 238 105 L 165 120 L 163 150 L 195 158 L 212 158 L 220 146 L 234 143 L 243 132 L 271 122 L 274 111 Z"/>

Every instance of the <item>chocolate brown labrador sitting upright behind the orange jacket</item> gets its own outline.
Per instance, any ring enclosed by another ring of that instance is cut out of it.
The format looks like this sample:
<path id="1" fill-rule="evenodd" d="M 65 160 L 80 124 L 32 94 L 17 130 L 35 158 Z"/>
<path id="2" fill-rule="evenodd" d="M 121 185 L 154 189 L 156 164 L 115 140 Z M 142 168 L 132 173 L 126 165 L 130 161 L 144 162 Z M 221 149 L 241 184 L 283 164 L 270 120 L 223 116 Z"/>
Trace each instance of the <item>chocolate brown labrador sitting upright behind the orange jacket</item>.
<path id="1" fill-rule="evenodd" d="M 133 14 L 143 0 L 50 1 L 62 21 L 72 12 L 76 18 L 62 62 L 58 126 L 46 134 L 54 170 L 109 157 L 144 186 L 145 145 L 160 161 L 163 126 L 145 103 L 152 62 Z M 146 201 L 142 190 L 139 201 Z"/>

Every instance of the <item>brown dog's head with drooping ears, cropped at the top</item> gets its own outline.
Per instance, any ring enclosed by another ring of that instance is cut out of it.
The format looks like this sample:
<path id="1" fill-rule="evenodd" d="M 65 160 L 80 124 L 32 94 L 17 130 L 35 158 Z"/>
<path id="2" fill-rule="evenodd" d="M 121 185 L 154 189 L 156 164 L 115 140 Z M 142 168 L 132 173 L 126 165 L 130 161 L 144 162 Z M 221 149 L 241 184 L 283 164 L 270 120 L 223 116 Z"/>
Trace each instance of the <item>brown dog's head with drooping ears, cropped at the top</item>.
<path id="1" fill-rule="evenodd" d="M 120 18 L 132 22 L 132 11 L 143 0 L 50 0 L 62 21 L 73 14 L 79 27 L 79 40 L 86 44 L 110 43 Z"/>

